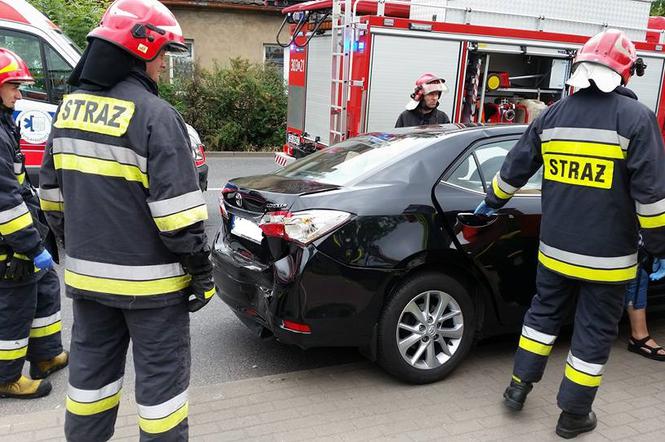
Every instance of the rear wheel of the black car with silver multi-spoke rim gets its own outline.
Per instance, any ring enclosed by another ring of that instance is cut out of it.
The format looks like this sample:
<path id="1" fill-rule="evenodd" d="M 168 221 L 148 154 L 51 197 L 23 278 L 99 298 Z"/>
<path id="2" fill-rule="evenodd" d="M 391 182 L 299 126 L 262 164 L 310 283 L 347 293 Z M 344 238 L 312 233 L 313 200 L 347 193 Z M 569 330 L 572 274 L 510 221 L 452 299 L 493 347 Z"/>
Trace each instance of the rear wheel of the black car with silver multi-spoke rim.
<path id="1" fill-rule="evenodd" d="M 406 382 L 439 381 L 468 354 L 475 323 L 473 301 L 457 280 L 435 272 L 415 275 L 393 292 L 381 313 L 377 361 Z"/>

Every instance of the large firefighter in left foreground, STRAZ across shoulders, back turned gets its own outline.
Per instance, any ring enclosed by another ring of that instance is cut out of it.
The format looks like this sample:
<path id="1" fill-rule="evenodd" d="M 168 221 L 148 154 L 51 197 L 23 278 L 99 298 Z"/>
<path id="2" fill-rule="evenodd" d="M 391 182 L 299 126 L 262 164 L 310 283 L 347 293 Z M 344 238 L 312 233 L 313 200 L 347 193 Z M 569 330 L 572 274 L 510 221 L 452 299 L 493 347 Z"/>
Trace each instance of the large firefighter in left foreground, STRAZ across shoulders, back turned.
<path id="1" fill-rule="evenodd" d="M 115 1 L 88 42 L 40 171 L 73 299 L 65 436 L 111 438 L 131 340 L 140 440 L 184 441 L 189 312 L 214 285 L 187 130 L 156 81 L 186 45 L 157 0 Z"/>

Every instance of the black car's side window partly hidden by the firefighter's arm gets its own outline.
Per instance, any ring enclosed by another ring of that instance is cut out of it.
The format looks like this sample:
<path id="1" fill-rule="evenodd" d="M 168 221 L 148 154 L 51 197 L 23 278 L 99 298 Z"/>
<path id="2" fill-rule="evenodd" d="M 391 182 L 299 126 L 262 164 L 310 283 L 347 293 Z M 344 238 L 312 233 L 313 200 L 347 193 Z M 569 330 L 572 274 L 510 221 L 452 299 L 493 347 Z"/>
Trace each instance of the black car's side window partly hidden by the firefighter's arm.
<path id="1" fill-rule="evenodd" d="M 506 155 L 515 143 L 517 140 L 500 140 L 477 146 L 450 174 L 446 182 L 485 193 L 488 186 L 492 184 L 494 175 L 501 170 Z M 517 194 L 539 194 L 542 180 L 543 169 L 541 167 Z"/>

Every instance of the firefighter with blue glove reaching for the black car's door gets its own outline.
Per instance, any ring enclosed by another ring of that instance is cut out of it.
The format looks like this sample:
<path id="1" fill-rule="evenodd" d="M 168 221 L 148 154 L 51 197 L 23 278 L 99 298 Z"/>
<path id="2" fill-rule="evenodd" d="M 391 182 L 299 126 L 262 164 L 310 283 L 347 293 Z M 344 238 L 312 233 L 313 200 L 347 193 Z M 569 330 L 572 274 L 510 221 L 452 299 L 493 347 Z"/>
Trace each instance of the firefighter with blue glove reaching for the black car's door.
<path id="1" fill-rule="evenodd" d="M 591 410 L 617 335 L 627 282 L 637 271 L 638 228 L 665 257 L 665 152 L 654 113 L 625 87 L 644 73 L 620 31 L 592 37 L 574 61 L 577 92 L 529 125 L 494 177 L 478 214 L 491 214 L 541 167 L 537 294 L 526 313 L 506 406 L 520 410 L 541 379 L 568 306 L 575 325 L 558 395 L 556 432 L 596 426 Z"/>

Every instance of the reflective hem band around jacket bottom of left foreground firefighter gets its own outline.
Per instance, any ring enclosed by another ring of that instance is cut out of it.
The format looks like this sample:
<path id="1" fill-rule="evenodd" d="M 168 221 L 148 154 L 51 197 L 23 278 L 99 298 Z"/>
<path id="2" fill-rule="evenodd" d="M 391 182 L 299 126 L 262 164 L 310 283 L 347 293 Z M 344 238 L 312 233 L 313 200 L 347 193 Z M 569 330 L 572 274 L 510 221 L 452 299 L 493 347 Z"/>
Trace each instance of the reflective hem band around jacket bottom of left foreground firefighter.
<path id="1" fill-rule="evenodd" d="M 191 276 L 179 263 L 126 266 L 67 257 L 65 283 L 73 288 L 111 295 L 150 296 L 189 286 Z"/>

